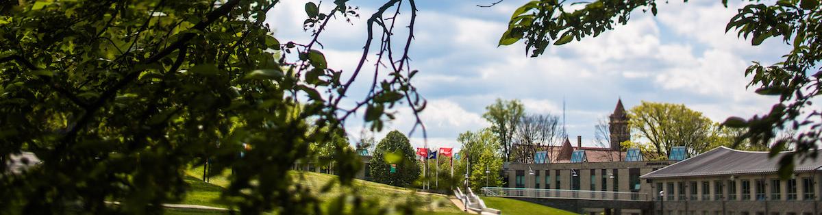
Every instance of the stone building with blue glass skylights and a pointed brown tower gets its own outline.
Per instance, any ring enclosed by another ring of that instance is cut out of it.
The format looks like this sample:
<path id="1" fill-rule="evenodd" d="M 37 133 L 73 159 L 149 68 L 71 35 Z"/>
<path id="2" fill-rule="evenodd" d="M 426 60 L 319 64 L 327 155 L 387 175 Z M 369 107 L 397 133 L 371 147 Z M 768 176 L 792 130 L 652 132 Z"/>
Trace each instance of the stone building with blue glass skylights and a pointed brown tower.
<path id="1" fill-rule="evenodd" d="M 573 196 L 568 196 L 570 199 L 580 199 L 580 197 L 582 199 L 621 199 L 624 201 L 615 204 L 627 204 L 630 201 L 643 203 L 641 207 L 635 209 L 615 210 L 608 208 L 607 205 L 602 208 L 586 208 L 587 206 L 582 205 L 566 207 L 567 205 L 564 205 L 566 203 L 560 200 L 565 197 L 562 194 L 552 196 L 556 198 L 548 198 L 552 200 L 533 198 L 533 200 L 540 201 L 539 204 L 580 213 L 652 213 L 649 211 L 651 206 L 649 200 L 653 197 L 653 187 L 649 182 L 640 180 L 640 176 L 676 161 L 644 161 L 639 149 L 621 149 L 621 142 L 630 140 L 628 116 L 621 99 L 617 101 L 617 107 L 609 118 L 610 145 L 602 148 L 582 147 L 582 138 L 577 136 L 576 146 L 573 146 L 566 138 L 561 146 L 543 148 L 541 153 L 544 155 L 537 153 L 533 163 L 507 163 L 503 168 L 503 173 L 506 176 L 508 187 L 564 190 L 558 192 L 572 194 Z M 539 192 L 546 191 L 534 190 L 533 194 L 548 197 L 552 194 L 550 192 L 554 191 Z M 580 196 L 580 194 L 590 196 Z"/>

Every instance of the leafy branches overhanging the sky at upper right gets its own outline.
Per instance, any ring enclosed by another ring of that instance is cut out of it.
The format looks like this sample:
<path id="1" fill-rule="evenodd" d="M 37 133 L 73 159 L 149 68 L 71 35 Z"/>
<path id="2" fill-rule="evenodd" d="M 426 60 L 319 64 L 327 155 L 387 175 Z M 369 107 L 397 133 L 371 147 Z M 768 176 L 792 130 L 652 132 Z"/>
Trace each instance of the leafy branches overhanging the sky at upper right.
<path id="1" fill-rule="evenodd" d="M 722 2 L 727 7 L 727 0 Z M 743 140 L 761 146 L 773 143 L 771 156 L 787 147 L 796 149 L 797 153 L 780 160 L 780 172 L 788 176 L 795 159 L 816 158 L 818 151 L 815 149 L 822 144 L 822 111 L 812 106 L 812 100 L 822 94 L 822 6 L 820 0 L 742 4 L 737 15 L 727 21 L 726 31 L 736 31 L 737 36 L 750 39 L 751 45 L 776 38 L 791 45 L 792 49 L 783 55 L 782 62 L 770 66 L 753 62 L 745 71 L 750 78 L 747 87 L 755 88 L 757 94 L 778 96 L 778 103 L 763 115 L 749 119 L 729 117 L 723 126 L 745 129 L 736 144 Z M 615 25 L 625 25 L 631 12 L 638 9 L 650 11 L 655 16 L 657 1 L 530 1 L 514 11 L 499 44 L 510 45 L 524 39 L 526 52 L 537 57 L 552 42 L 561 45 L 574 39 L 580 41 L 612 30 Z M 792 130 L 795 135 L 780 138 L 778 134 L 786 130 Z"/>

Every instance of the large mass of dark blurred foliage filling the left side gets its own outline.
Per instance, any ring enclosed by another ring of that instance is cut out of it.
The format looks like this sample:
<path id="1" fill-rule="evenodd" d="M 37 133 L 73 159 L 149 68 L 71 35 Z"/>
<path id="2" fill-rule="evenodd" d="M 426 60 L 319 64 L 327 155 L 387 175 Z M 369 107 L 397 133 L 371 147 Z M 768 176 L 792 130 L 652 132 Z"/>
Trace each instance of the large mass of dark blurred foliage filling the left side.
<path id="1" fill-rule="evenodd" d="M 410 41 L 416 7 L 413 0 L 386 1 L 368 19 L 360 66 L 342 75 L 315 49 L 316 36 L 331 19 L 358 17 L 355 7 L 309 2 L 302 27 L 314 39 L 294 43 L 281 42 L 264 23 L 278 3 L 2 2 L 0 162 L 21 151 L 43 162 L 21 174 L 0 165 L 0 213 L 158 213 L 187 194 L 184 170 L 206 159 L 214 174 L 233 172 L 220 197 L 229 208 L 323 213 L 309 192 L 317 188 L 293 183 L 287 172 L 316 155 L 333 161 L 346 185 L 361 166 L 341 141 L 347 117 L 367 109 L 367 123 L 380 130 L 402 99 L 415 112 L 423 109 L 409 84 L 416 72 L 405 64 L 409 43 L 395 46 L 404 50 L 384 62 L 394 70 L 381 71 L 387 79 L 373 80 L 367 98 L 346 96 L 370 53 L 370 35 L 394 30 L 370 26 L 393 26 L 396 19 L 383 17 L 390 8 L 394 17 L 411 11 Z M 410 7 L 400 10 L 404 3 Z M 389 56 L 376 62 L 390 58 L 390 49 L 379 50 Z M 340 107 L 341 101 L 357 105 Z M 312 144 L 330 147 L 314 151 Z M 355 195 L 328 206 L 344 210 L 325 211 L 384 211 Z"/>

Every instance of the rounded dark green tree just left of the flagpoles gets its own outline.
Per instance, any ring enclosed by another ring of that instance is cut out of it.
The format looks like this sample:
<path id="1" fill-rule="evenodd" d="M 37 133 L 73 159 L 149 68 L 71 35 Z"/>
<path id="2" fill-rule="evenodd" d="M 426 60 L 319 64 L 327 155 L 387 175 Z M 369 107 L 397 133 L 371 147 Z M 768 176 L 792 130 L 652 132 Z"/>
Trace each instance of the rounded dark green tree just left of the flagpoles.
<path id="1" fill-rule="evenodd" d="M 368 165 L 371 167 L 372 179 L 388 185 L 411 185 L 417 180 L 420 172 L 415 156 L 411 142 L 403 133 L 397 130 L 388 132 L 388 135 L 376 144 L 371 163 Z M 390 172 L 392 164 L 396 165 L 396 172 Z"/>

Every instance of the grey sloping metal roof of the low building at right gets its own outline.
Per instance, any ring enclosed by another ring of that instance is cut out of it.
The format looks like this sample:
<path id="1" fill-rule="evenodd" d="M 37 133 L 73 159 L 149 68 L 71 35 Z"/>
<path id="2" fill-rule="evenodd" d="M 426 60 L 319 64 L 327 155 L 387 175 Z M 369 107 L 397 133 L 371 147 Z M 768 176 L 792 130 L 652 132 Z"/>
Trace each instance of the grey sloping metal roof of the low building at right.
<path id="1" fill-rule="evenodd" d="M 783 152 L 768 157 L 768 152 L 750 152 L 728 149 L 720 146 L 692 158 L 663 167 L 650 172 L 642 178 L 672 178 L 688 176 L 728 176 L 745 174 L 776 173 L 779 170 L 779 159 L 786 154 Z M 810 172 L 822 167 L 822 159 L 796 160 L 795 172 Z"/>

